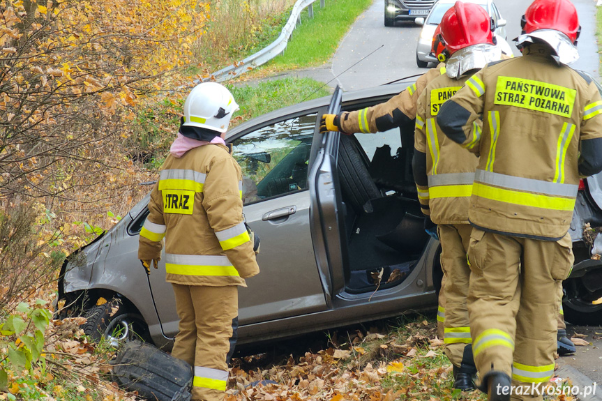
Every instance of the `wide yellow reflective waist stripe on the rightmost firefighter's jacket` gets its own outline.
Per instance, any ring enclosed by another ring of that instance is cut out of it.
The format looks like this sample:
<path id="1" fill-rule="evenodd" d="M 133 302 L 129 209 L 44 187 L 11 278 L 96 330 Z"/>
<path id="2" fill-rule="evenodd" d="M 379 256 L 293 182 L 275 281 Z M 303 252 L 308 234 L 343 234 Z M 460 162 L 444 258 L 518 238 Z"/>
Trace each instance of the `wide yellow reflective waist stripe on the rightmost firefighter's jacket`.
<path id="1" fill-rule="evenodd" d="M 551 197 L 548 195 L 538 195 L 529 192 L 506 190 L 503 188 L 487 186 L 478 182 L 475 182 L 472 186 L 472 195 L 498 202 L 532 206 L 540 209 L 572 211 L 575 208 L 574 198 L 567 199 L 563 197 Z"/>

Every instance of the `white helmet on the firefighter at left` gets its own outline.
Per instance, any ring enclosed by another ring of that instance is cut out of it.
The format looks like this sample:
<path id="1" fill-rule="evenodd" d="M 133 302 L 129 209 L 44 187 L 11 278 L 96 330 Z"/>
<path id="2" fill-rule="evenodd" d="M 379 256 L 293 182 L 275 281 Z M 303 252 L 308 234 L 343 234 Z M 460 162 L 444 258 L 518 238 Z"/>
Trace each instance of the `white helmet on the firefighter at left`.
<path id="1" fill-rule="evenodd" d="M 184 102 L 183 126 L 225 133 L 232 113 L 239 109 L 232 93 L 216 82 L 198 84 Z"/>

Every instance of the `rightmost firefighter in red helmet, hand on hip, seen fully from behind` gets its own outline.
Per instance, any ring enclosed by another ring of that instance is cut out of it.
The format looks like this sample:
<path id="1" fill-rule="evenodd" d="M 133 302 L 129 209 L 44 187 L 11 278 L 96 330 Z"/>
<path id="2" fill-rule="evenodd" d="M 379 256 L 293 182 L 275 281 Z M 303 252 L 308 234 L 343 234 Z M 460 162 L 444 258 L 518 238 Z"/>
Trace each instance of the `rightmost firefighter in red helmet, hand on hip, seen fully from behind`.
<path id="1" fill-rule="evenodd" d="M 554 373 L 557 292 L 574 257 L 580 177 L 602 171 L 602 98 L 578 59 L 569 0 L 535 0 L 516 41 L 442 105 L 437 123 L 480 154 L 469 201 L 468 310 L 489 400 L 543 400 Z M 474 122 L 482 118 L 481 131 Z"/>

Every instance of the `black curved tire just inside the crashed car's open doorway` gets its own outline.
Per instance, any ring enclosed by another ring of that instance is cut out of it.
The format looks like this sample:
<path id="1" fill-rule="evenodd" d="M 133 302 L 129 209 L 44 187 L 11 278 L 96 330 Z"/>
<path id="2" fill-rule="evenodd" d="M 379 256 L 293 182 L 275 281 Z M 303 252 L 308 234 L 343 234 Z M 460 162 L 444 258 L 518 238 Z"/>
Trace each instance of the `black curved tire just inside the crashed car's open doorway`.
<path id="1" fill-rule="evenodd" d="M 370 176 L 366 161 L 362 160 L 359 153 L 359 144 L 355 141 L 354 137 L 340 135 L 338 172 L 345 199 L 356 213 L 361 213 L 363 205 L 370 199 L 382 197 L 382 193 Z"/>

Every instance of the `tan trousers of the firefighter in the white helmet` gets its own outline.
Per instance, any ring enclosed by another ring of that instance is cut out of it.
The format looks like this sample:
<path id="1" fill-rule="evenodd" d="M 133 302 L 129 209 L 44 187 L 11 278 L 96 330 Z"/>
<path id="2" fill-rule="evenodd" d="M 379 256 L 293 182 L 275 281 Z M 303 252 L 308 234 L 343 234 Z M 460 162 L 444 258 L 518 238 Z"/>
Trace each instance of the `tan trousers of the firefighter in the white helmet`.
<path id="1" fill-rule="evenodd" d="M 194 367 L 194 401 L 222 401 L 238 324 L 238 287 L 173 284 L 180 318 L 172 356 Z M 231 346 L 232 339 L 232 346 Z M 231 351 L 232 347 L 232 351 Z"/>

